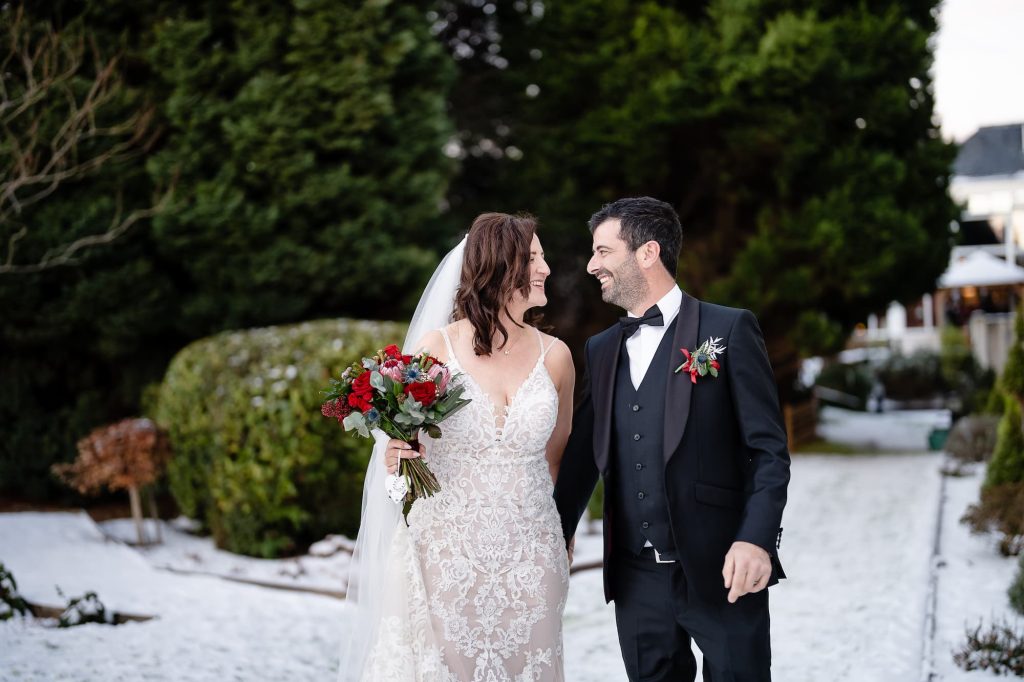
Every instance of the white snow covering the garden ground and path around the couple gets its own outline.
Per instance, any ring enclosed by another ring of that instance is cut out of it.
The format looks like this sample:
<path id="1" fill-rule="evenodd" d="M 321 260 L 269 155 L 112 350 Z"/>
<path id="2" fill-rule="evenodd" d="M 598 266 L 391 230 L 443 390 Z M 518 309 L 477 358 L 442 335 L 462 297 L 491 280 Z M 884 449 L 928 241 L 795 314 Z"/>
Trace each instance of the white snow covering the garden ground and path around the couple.
<path id="1" fill-rule="evenodd" d="M 847 419 L 856 426 L 844 425 Z M 927 435 L 934 423 L 928 419 L 911 415 L 901 424 L 897 415 L 874 422 L 864 415 L 829 416 L 834 435 L 870 433 L 878 450 L 889 452 L 916 439 L 913 433 Z M 977 499 L 981 472 L 943 479 L 941 462 L 926 453 L 794 458 L 780 550 L 790 580 L 772 588 L 771 597 L 777 682 L 991 677 L 959 671 L 951 652 L 966 625 L 1009 615 L 1006 589 L 1015 561 L 1000 557 L 991 539 L 972 537 L 958 523 Z M 70 630 L 32 620 L 0 624 L 0 679 L 334 678 L 343 602 L 166 567 L 337 590 L 347 566 L 344 551 L 249 559 L 170 525 L 159 548 L 134 549 L 108 537 L 132 532 L 126 521 L 100 527 L 84 513 L 0 514 L 0 561 L 29 600 L 61 603 L 54 590 L 59 585 L 68 596 L 95 590 L 108 607 L 156 616 Z M 937 539 L 939 560 L 933 561 Z M 582 535 L 578 542 L 578 562 L 600 556 L 599 535 Z M 933 594 L 934 638 L 928 619 Z M 566 680 L 626 679 L 599 569 L 573 576 L 564 638 Z"/>

